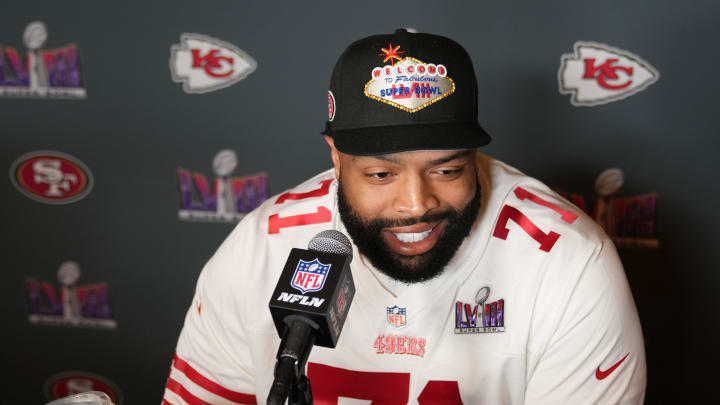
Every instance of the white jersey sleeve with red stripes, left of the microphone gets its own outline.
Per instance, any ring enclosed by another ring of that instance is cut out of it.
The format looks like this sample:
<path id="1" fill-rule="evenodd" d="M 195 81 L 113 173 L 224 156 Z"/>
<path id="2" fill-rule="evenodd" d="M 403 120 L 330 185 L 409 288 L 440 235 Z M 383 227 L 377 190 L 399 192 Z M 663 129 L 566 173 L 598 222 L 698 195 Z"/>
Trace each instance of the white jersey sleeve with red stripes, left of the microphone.
<path id="1" fill-rule="evenodd" d="M 236 231 L 238 231 L 236 229 Z M 233 234 L 236 234 L 234 232 Z M 242 242 L 231 234 L 198 278 L 163 404 L 255 404 L 252 356 L 243 326 L 242 283 L 233 263 Z"/>

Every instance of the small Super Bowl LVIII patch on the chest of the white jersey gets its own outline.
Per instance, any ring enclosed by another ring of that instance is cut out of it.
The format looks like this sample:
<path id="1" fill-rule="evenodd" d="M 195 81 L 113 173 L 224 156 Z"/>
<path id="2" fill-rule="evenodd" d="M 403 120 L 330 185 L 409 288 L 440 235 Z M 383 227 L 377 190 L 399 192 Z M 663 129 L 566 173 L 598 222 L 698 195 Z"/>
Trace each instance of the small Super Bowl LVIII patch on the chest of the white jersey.
<path id="1" fill-rule="evenodd" d="M 505 300 L 487 303 L 490 287 L 475 294 L 476 305 L 455 303 L 455 333 L 505 332 Z"/>

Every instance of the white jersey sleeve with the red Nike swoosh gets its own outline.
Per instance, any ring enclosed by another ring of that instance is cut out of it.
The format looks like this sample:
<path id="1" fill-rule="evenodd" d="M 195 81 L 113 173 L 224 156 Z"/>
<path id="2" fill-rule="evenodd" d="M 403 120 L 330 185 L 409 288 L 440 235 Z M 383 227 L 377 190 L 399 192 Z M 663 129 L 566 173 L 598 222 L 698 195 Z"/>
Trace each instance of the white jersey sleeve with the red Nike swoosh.
<path id="1" fill-rule="evenodd" d="M 581 260 L 565 288 L 539 297 L 559 321 L 543 330 L 544 320 L 536 320 L 541 337 L 529 348 L 525 403 L 642 404 L 642 331 L 615 247 L 599 241 Z"/>

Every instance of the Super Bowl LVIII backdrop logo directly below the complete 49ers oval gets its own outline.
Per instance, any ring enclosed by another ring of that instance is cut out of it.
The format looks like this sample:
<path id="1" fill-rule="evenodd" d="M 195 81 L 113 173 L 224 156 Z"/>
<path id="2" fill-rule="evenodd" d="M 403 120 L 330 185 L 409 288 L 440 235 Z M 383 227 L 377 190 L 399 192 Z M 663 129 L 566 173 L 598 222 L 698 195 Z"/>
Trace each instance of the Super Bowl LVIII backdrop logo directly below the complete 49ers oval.
<path id="1" fill-rule="evenodd" d="M 57 276 L 60 291 L 45 281 L 25 280 L 30 323 L 102 329 L 117 327 L 110 311 L 107 283 L 77 285 L 80 266 L 72 261 L 62 263 Z"/>

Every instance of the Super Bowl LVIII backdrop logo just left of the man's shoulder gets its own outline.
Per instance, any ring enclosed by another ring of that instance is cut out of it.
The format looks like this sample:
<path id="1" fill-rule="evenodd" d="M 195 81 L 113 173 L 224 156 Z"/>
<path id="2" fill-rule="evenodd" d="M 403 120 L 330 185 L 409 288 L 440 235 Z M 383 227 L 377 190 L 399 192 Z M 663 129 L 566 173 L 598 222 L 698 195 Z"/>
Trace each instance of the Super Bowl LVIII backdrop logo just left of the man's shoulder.
<path id="1" fill-rule="evenodd" d="M 267 200 L 267 174 L 230 177 L 237 163 L 237 155 L 230 149 L 215 155 L 213 170 L 217 177 L 213 190 L 204 175 L 178 169 L 178 217 L 186 221 L 234 223 Z"/>

